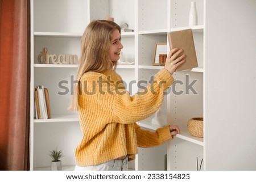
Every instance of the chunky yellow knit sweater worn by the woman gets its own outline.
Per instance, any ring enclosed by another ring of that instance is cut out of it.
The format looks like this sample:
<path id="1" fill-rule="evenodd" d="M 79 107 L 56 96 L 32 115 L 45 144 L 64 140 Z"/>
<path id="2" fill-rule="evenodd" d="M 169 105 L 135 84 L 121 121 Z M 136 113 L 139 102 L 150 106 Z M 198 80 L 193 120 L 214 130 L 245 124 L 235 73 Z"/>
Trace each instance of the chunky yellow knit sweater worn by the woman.
<path id="1" fill-rule="evenodd" d="M 151 84 L 130 96 L 115 70 L 82 75 L 79 117 L 83 137 L 76 148 L 77 166 L 96 165 L 123 155 L 134 159 L 138 147 L 158 146 L 171 139 L 168 126 L 149 132 L 136 122 L 159 109 L 163 91 L 172 82 L 172 75 L 162 69 Z"/>

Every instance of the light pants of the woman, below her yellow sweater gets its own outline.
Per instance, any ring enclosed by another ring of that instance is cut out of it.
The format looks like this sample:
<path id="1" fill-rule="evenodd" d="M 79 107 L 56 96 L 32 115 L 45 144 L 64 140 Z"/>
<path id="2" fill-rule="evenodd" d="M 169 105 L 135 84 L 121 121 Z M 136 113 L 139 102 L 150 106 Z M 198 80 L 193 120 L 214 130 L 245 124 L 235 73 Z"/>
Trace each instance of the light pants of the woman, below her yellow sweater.
<path id="1" fill-rule="evenodd" d="M 109 160 L 94 166 L 76 166 L 75 171 L 127 171 L 128 157 L 123 160 Z"/>

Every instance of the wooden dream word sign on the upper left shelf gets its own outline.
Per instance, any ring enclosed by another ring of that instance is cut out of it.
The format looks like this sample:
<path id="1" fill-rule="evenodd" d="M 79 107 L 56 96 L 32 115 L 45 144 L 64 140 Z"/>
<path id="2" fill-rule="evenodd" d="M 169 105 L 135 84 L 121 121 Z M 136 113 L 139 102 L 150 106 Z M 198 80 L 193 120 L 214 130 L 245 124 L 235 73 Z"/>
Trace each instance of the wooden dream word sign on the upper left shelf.
<path id="1" fill-rule="evenodd" d="M 38 62 L 40 64 L 79 64 L 78 56 L 76 54 L 47 54 L 47 48 L 38 55 Z"/>

